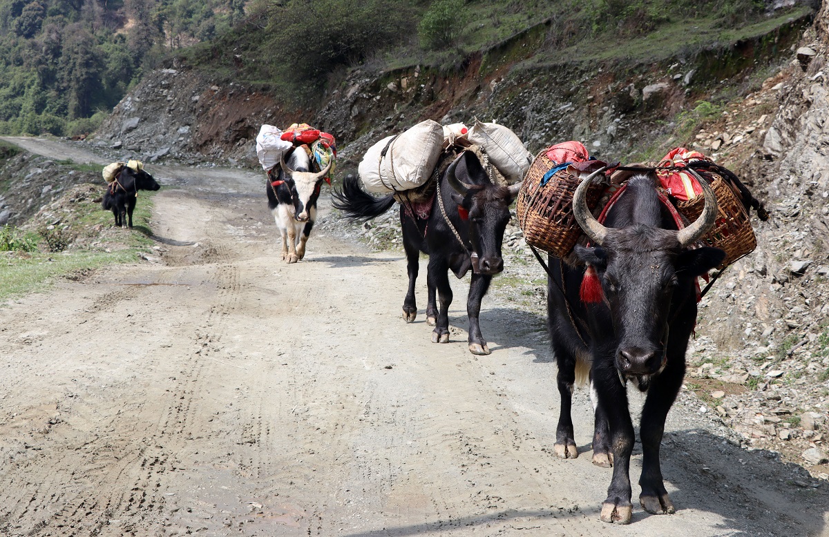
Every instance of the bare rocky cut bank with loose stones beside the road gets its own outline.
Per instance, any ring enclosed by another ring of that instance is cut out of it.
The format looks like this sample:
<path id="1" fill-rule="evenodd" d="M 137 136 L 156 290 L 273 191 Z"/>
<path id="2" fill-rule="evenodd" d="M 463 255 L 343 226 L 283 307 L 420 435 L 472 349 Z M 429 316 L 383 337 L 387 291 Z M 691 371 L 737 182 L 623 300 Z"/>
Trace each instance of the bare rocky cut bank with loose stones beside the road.
<path id="1" fill-rule="evenodd" d="M 426 118 L 478 117 L 507 124 L 532 152 L 578 139 L 598 157 L 631 162 L 658 160 L 679 144 L 698 148 L 737 172 L 772 218 L 754 220 L 758 249 L 705 299 L 686 386 L 745 445 L 827 476 L 827 10 L 770 17 L 729 42 L 657 52 L 651 43 L 649 54 L 632 48 L 623 57 L 565 51 L 568 60 L 537 53 L 550 24 L 541 22 L 449 72 L 351 70 L 308 110 L 171 64 L 122 100 L 89 143 L 114 158 L 256 167 L 260 124 L 306 120 L 337 134 L 344 173 L 387 133 Z M 394 246 L 394 229 L 393 217 L 347 228 L 382 247 Z M 520 230 L 509 233 L 521 275 L 511 290 L 527 297 L 523 307 L 541 309 L 541 269 Z"/>

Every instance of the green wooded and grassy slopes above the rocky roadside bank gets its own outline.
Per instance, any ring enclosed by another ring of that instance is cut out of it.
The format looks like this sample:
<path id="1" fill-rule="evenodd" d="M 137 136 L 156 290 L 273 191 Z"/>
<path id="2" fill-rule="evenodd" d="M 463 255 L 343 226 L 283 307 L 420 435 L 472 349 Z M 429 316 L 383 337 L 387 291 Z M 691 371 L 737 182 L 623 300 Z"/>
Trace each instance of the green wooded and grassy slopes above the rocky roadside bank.
<path id="1" fill-rule="evenodd" d="M 676 51 L 739 39 L 804 3 L 0 0 L 0 133 L 90 133 L 145 74 L 179 61 L 313 108 L 355 65 L 452 72 L 536 27 L 539 57 L 601 54 L 654 32 Z"/>

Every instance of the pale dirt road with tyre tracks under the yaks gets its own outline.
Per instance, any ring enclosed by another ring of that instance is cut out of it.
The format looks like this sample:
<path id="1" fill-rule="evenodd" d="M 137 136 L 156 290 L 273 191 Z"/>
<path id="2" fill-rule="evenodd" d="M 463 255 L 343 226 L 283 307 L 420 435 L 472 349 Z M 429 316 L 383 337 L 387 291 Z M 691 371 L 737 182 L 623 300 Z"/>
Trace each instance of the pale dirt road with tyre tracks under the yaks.
<path id="1" fill-rule="evenodd" d="M 0 309 L 0 535 L 829 535 L 826 486 L 682 404 L 676 515 L 599 522 L 584 390 L 583 455 L 552 454 L 544 319 L 485 301 L 476 357 L 456 300 L 435 345 L 400 319 L 400 254 L 318 234 L 284 264 L 258 175 L 151 171 L 178 186 L 155 198 L 162 264 Z"/>

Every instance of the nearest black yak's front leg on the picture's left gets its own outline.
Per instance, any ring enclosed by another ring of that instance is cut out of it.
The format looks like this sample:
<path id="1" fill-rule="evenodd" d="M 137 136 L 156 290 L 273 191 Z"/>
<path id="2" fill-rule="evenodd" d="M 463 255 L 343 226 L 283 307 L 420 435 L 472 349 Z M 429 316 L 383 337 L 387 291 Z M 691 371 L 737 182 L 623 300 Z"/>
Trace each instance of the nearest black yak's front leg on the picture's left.
<path id="1" fill-rule="evenodd" d="M 599 408 L 608 419 L 610 446 L 613 448 L 613 477 L 608 497 L 602 503 L 601 520 L 630 524 L 630 455 L 633 452 L 633 423 L 628 410 L 628 391 L 619 381 L 612 358 L 601 356 L 593 362 L 593 381 Z"/>

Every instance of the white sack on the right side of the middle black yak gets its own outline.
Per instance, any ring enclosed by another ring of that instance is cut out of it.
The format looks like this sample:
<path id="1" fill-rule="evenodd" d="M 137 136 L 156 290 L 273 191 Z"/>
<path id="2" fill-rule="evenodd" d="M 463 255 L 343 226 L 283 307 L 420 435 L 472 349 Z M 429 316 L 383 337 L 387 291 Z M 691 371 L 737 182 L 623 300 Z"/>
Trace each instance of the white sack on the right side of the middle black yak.
<path id="1" fill-rule="evenodd" d="M 509 128 L 497 123 L 476 121 L 467 133 L 469 142 L 480 146 L 489 157 L 489 162 L 498 172 L 514 184 L 524 178 L 530 169 L 532 154 L 524 148 L 521 138 Z"/>

